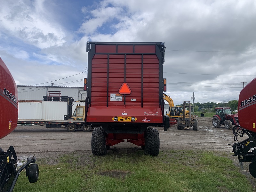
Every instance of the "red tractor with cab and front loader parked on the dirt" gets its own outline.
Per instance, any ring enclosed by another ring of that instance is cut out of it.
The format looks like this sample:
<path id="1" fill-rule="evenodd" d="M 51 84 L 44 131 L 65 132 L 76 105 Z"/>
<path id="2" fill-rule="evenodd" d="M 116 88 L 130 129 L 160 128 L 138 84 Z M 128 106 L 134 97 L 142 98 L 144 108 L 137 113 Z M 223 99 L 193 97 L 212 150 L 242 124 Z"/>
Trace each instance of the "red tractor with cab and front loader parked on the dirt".
<path id="1" fill-rule="evenodd" d="M 233 125 L 239 124 L 238 114 L 232 114 L 229 107 L 217 107 L 215 110 L 216 115 L 212 118 L 213 127 L 220 127 L 220 125 L 224 125 L 225 129 L 232 129 Z"/>

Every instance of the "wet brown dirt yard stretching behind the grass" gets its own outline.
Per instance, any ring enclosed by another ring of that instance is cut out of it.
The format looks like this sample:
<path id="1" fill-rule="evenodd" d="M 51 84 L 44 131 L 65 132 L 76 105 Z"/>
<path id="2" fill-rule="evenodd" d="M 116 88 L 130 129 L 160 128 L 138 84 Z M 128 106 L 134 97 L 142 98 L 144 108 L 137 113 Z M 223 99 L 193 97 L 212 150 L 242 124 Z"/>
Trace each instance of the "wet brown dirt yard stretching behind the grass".
<path id="1" fill-rule="evenodd" d="M 198 131 L 178 130 L 177 126 L 169 128 L 164 132 L 162 127 L 158 127 L 160 134 L 160 150 L 166 149 L 204 149 L 222 151 L 231 159 L 234 164 L 239 166 L 237 157 L 231 156 L 234 135 L 232 130 L 226 130 L 223 125 L 220 128 L 214 128 L 212 117 L 198 117 Z M 18 158 L 26 159 L 29 156 L 39 158 L 49 158 L 49 163 L 57 161 L 58 157 L 66 153 L 81 153 L 85 160 L 90 161 L 91 151 L 91 132 L 77 130 L 68 132 L 65 128 L 45 128 L 45 126 L 22 126 L 17 128 L 8 136 L 0 140 L 0 147 L 6 151 L 10 145 L 13 145 Z M 246 139 L 239 137 L 238 141 Z M 228 145 L 230 144 L 230 145 Z M 122 142 L 110 148 L 115 151 L 141 150 L 140 147 Z M 221 163 L 221 162 L 220 162 Z M 249 163 L 244 163 L 243 171 L 250 176 L 248 171 Z M 251 177 L 252 181 L 253 178 Z M 255 180 L 253 181 L 255 183 Z"/>

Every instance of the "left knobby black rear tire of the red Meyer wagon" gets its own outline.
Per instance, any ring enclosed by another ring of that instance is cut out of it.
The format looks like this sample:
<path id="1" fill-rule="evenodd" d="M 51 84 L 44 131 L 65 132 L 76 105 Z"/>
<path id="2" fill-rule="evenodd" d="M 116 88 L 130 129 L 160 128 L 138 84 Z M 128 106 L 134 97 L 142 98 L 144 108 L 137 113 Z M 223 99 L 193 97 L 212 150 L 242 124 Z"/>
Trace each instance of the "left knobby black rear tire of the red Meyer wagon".
<path id="1" fill-rule="evenodd" d="M 92 131 L 92 154 L 93 155 L 106 155 L 106 132 L 102 127 L 96 127 Z"/>

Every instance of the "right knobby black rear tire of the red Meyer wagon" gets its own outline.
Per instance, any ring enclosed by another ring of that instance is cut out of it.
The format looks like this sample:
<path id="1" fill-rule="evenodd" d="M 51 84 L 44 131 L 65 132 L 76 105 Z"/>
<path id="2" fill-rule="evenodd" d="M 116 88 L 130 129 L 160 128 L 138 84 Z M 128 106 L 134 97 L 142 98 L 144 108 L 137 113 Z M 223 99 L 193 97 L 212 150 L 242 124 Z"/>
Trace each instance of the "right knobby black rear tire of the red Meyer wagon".
<path id="1" fill-rule="evenodd" d="M 160 138 L 157 129 L 148 127 L 145 133 L 145 155 L 157 156 L 160 149 Z"/>

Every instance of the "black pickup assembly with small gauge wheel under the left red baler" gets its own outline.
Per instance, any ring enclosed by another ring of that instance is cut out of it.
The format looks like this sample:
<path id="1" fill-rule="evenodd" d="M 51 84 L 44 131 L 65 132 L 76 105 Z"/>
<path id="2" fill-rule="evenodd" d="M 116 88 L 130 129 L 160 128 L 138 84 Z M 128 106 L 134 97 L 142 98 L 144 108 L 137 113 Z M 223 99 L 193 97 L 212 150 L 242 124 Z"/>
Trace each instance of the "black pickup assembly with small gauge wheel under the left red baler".
<path id="1" fill-rule="evenodd" d="M 26 169 L 28 181 L 35 183 L 39 174 L 38 165 L 35 162 L 35 156 L 29 157 L 27 158 L 27 163 L 17 171 L 17 155 L 13 146 L 10 146 L 6 152 L 0 152 L 0 191 L 12 192 L 23 169 Z"/>

